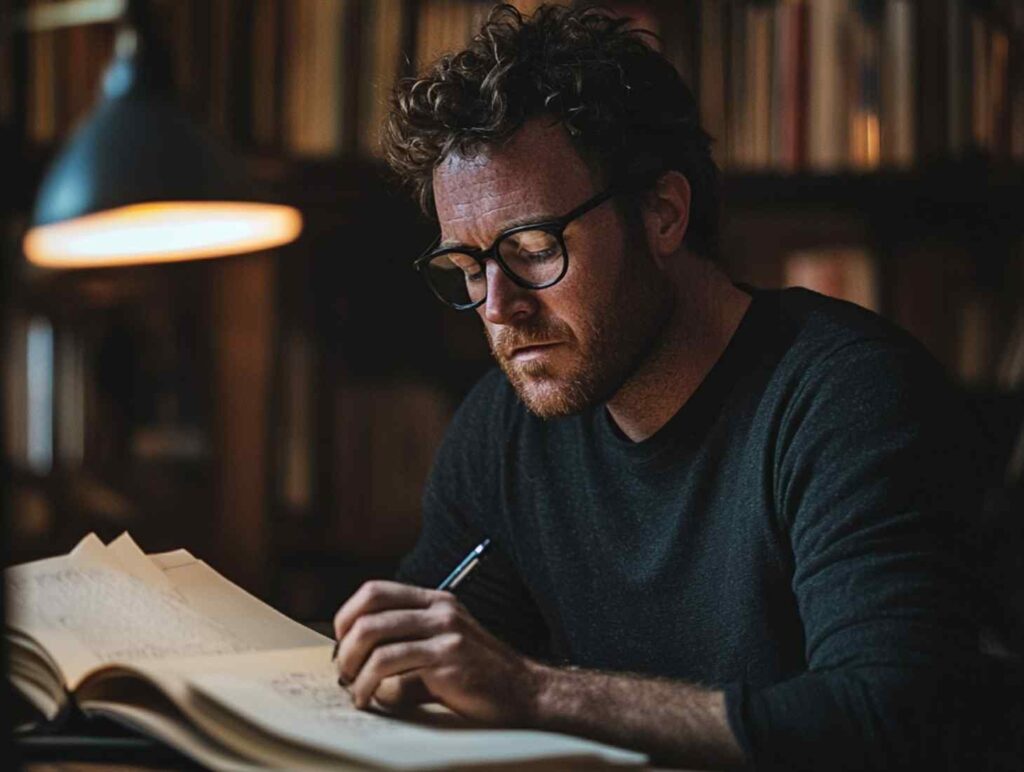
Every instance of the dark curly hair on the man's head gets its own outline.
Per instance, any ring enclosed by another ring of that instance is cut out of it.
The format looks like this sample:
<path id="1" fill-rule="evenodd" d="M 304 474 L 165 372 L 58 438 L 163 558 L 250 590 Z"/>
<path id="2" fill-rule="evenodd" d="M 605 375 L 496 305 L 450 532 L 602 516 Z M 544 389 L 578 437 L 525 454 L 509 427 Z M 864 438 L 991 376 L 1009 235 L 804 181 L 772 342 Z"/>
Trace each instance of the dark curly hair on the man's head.
<path id="1" fill-rule="evenodd" d="M 469 45 L 395 87 L 382 129 L 390 167 L 434 216 L 434 168 L 471 156 L 535 116 L 567 130 L 611 182 L 676 170 L 690 184 L 686 246 L 714 258 L 718 169 L 693 94 L 628 18 L 586 6 L 543 5 L 524 17 L 494 8 Z M 633 205 L 636 205 L 633 201 Z"/>

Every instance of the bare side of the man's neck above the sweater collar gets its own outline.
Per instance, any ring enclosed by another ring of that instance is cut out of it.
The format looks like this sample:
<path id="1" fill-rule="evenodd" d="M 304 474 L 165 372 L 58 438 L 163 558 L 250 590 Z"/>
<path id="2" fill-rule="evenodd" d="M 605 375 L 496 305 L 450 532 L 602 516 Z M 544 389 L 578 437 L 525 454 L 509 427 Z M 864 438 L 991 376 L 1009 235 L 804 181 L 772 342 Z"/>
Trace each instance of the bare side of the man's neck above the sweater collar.
<path id="1" fill-rule="evenodd" d="M 665 426 L 693 395 L 732 339 L 751 296 L 716 266 L 697 260 L 662 340 L 608 401 L 615 425 L 634 442 Z"/>

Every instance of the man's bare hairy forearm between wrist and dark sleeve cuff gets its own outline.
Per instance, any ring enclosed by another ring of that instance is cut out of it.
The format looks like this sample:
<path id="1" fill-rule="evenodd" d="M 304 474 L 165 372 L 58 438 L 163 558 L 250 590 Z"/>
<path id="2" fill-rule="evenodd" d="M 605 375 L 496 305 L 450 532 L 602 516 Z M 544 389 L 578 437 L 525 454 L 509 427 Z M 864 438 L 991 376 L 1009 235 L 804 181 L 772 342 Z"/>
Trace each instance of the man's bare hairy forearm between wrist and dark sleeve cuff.
<path id="1" fill-rule="evenodd" d="M 725 695 L 680 681 L 537 664 L 528 722 L 643 750 L 658 763 L 728 769 L 743 764 Z"/>

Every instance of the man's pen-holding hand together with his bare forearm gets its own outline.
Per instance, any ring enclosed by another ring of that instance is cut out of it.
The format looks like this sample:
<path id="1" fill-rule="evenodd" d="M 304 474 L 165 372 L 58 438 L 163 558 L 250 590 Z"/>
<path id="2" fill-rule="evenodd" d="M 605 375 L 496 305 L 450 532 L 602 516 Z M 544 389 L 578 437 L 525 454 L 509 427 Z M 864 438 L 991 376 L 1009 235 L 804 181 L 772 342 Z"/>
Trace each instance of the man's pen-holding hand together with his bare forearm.
<path id="1" fill-rule="evenodd" d="M 682 766 L 743 762 L 721 691 L 551 668 L 512 650 L 454 595 L 368 582 L 334 617 L 339 680 L 356 707 L 437 701 L 467 718 L 635 747 Z"/>

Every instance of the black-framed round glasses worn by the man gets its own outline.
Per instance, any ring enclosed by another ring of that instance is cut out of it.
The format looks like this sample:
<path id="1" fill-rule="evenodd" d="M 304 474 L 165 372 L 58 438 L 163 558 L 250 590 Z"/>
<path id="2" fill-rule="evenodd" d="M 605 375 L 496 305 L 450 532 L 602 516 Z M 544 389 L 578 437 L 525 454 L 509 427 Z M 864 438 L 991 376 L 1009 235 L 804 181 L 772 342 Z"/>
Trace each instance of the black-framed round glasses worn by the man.
<path id="1" fill-rule="evenodd" d="M 465 311 L 487 299 L 485 261 L 494 259 L 510 280 L 527 290 L 558 284 L 569 267 L 565 227 L 621 192 L 613 185 L 555 220 L 516 225 L 502 231 L 487 249 L 443 247 L 430 249 L 413 263 L 434 295 L 444 304 Z"/>

